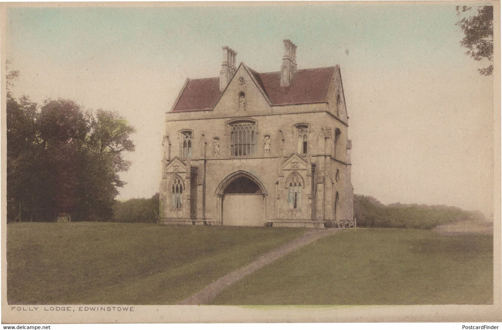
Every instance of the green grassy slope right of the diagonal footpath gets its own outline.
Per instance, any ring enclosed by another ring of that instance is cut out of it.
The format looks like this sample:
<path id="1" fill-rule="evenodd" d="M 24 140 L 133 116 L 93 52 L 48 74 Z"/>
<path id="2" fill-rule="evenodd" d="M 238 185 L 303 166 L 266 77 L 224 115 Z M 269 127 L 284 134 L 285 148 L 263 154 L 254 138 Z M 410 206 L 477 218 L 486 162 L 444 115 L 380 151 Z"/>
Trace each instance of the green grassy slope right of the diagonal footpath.
<path id="1" fill-rule="evenodd" d="M 247 276 L 214 304 L 492 304 L 493 238 L 346 230 Z"/>

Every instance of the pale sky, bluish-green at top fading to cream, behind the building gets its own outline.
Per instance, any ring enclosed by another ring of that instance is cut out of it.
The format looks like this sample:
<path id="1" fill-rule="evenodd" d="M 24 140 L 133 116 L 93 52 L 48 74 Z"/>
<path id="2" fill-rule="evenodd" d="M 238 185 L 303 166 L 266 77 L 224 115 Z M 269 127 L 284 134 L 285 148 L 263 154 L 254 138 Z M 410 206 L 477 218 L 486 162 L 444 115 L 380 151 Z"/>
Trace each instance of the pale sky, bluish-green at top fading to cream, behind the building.
<path id="1" fill-rule="evenodd" d="M 299 69 L 340 65 L 354 193 L 493 212 L 493 77 L 461 48 L 454 3 L 98 6 L 9 9 L 7 57 L 14 95 L 137 129 L 119 199 L 158 191 L 165 111 L 186 78 L 217 77 L 222 46 L 279 71 L 291 39 Z"/>

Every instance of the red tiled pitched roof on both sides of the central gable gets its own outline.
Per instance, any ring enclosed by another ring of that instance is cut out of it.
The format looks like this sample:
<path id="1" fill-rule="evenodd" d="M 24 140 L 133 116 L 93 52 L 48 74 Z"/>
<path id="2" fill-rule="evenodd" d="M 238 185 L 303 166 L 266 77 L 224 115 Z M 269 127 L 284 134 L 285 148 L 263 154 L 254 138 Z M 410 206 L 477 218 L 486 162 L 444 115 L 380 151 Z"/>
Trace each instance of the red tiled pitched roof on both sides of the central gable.
<path id="1" fill-rule="evenodd" d="M 260 85 L 271 105 L 322 103 L 327 101 L 335 67 L 296 70 L 292 83 L 281 87 L 281 72 L 249 72 Z M 219 78 L 188 79 L 173 112 L 211 110 L 218 102 Z"/>

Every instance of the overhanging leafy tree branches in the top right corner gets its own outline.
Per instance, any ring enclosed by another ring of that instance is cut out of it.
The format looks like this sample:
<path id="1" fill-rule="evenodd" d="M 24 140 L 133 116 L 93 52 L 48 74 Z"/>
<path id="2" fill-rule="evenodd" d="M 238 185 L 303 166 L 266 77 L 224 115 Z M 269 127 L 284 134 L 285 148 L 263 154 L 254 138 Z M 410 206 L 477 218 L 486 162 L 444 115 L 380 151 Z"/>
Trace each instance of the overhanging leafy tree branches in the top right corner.
<path id="1" fill-rule="evenodd" d="M 468 6 L 457 6 L 457 16 L 462 16 L 471 9 L 472 7 Z M 470 55 L 476 61 L 482 59 L 493 61 L 493 6 L 478 6 L 477 15 L 464 16 L 455 25 L 465 34 L 460 45 L 467 48 L 466 55 Z M 493 73 L 493 64 L 478 71 L 482 75 L 489 76 Z"/>

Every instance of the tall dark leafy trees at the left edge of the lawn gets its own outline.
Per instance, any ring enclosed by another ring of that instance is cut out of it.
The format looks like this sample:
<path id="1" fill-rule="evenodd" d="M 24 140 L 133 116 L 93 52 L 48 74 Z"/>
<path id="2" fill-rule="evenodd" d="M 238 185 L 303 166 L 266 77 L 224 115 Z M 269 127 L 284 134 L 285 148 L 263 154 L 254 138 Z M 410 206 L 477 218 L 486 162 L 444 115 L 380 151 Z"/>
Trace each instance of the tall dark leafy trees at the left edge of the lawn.
<path id="1" fill-rule="evenodd" d="M 85 111 L 71 100 L 43 104 L 19 99 L 7 76 L 7 220 L 108 221 L 118 187 L 118 173 L 130 162 L 124 151 L 135 145 L 135 130 L 115 112 Z"/>

